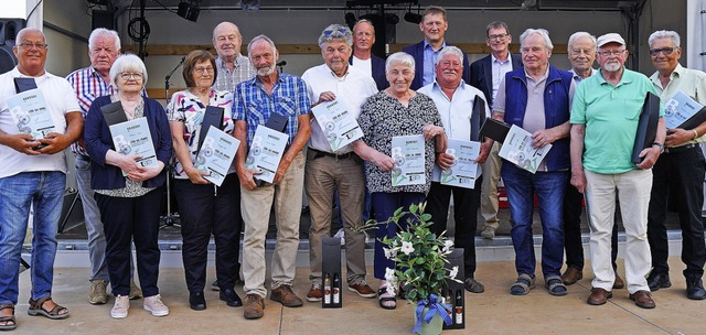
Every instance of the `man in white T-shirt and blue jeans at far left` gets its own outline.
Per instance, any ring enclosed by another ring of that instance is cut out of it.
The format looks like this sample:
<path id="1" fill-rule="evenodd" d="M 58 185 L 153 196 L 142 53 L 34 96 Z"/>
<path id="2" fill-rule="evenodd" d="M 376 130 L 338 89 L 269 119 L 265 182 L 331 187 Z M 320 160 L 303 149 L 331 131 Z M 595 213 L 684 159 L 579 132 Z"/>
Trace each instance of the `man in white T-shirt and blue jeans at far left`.
<path id="1" fill-rule="evenodd" d="M 64 149 L 78 140 L 83 129 L 81 109 L 71 85 L 44 69 L 46 37 L 25 28 L 12 51 L 18 65 L 0 75 L 0 329 L 17 327 L 18 279 L 30 205 L 33 213 L 32 294 L 30 315 L 66 318 L 68 310 L 52 298 L 56 230 L 66 186 Z M 7 99 L 17 94 L 15 78 L 33 78 L 43 95 L 55 130 L 44 138 L 20 133 Z"/>

